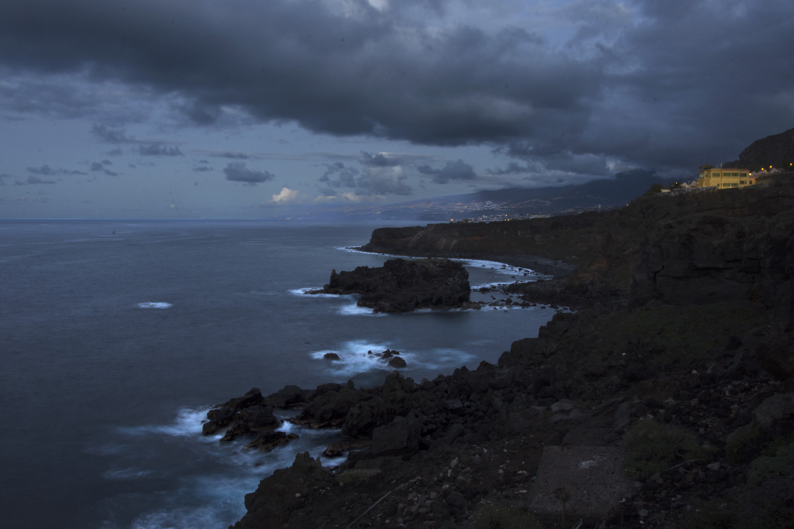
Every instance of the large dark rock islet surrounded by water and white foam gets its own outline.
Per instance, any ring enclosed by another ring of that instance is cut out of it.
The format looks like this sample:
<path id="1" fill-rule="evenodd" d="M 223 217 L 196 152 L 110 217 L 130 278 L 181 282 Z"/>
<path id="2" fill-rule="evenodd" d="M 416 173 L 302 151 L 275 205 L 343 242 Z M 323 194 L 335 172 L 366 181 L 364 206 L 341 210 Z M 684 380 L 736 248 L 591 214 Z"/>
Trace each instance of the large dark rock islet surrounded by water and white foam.
<path id="1" fill-rule="evenodd" d="M 357 293 L 358 306 L 376 312 L 479 308 L 468 299 L 468 272 L 449 259 L 390 259 L 380 268 L 333 270 L 328 284 L 310 293 Z"/>

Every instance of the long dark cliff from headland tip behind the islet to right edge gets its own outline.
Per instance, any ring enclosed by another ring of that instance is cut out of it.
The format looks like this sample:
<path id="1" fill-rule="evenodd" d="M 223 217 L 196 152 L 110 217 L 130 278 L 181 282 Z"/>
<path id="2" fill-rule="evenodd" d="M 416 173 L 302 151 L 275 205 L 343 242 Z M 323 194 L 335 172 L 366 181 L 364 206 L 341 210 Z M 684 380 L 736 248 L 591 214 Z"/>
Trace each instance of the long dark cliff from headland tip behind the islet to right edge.
<path id="1" fill-rule="evenodd" d="M 570 217 L 380 228 L 362 249 L 556 260 L 575 264 L 551 285 L 562 303 L 566 295 L 634 305 L 744 300 L 785 319 L 794 314 L 792 233 L 794 189 L 769 187 L 640 197 L 619 211 Z M 544 283 L 514 291 L 549 289 Z"/>

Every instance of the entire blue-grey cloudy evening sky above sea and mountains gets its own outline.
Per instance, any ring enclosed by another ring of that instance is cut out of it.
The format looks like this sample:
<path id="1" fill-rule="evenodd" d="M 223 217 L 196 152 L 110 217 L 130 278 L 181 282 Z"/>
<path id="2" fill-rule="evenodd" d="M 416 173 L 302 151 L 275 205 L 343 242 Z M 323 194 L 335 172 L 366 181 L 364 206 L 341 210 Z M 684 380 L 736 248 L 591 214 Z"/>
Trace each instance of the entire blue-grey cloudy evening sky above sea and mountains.
<path id="1" fill-rule="evenodd" d="M 791 0 L 4 0 L 0 217 L 682 178 L 794 127 Z"/>

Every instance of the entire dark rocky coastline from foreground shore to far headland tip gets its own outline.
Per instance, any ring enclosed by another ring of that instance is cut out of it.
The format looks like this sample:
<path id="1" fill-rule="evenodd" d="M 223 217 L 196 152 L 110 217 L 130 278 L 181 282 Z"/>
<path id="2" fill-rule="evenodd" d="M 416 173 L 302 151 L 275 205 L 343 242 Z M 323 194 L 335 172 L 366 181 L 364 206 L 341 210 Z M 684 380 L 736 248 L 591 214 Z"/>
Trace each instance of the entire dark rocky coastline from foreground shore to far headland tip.
<path id="1" fill-rule="evenodd" d="M 298 406 L 296 424 L 341 428 L 327 455 L 347 453 L 299 454 L 233 527 L 794 527 L 792 187 L 382 228 L 365 248 L 545 263 L 556 277 L 513 295 L 577 310 L 497 365 L 211 411 L 208 429 L 253 438 L 268 407 Z"/>

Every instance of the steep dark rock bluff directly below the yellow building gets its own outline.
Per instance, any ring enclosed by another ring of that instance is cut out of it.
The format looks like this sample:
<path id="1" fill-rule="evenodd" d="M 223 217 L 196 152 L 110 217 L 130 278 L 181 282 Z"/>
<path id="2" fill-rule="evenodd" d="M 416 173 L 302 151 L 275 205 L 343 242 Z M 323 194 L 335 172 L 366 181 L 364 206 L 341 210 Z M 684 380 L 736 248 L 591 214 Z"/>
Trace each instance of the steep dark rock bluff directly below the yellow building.
<path id="1" fill-rule="evenodd" d="M 632 272 L 635 305 L 746 300 L 792 320 L 794 211 L 790 191 L 748 194 L 737 209 L 698 212 L 669 220 L 642 245 Z M 772 206 L 772 207 L 769 207 Z"/>

